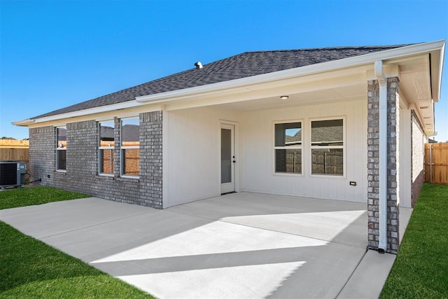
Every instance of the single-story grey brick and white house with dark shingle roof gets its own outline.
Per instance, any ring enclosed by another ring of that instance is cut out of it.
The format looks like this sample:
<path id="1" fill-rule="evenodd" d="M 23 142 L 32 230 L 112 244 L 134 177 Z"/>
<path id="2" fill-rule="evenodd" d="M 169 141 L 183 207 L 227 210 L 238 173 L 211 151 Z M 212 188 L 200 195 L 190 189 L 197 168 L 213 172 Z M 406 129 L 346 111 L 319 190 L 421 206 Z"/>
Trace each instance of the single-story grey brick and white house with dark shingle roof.
<path id="1" fill-rule="evenodd" d="M 14 124 L 43 185 L 158 209 L 240 191 L 365 202 L 370 248 L 395 253 L 444 46 L 242 53 Z"/>

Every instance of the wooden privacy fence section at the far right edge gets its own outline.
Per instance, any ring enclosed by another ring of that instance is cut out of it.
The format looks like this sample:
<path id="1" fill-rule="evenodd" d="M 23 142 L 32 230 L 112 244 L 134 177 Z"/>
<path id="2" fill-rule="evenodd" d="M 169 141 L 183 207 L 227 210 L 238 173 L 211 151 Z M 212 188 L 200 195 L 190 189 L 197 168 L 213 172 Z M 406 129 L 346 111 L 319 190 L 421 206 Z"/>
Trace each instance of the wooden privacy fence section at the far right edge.
<path id="1" fill-rule="evenodd" d="M 425 144 L 425 182 L 448 184 L 448 143 Z"/>

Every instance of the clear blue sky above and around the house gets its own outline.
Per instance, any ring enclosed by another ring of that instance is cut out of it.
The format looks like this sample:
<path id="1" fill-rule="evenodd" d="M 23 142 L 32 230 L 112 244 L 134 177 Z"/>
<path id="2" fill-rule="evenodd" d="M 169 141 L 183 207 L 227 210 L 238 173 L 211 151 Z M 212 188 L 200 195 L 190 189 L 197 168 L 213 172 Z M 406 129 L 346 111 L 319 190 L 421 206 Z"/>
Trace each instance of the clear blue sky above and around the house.
<path id="1" fill-rule="evenodd" d="M 10 123 L 251 50 L 448 36 L 448 1 L 0 0 L 0 137 Z M 447 56 L 447 55 L 446 55 Z M 447 58 L 436 139 L 448 141 Z"/>

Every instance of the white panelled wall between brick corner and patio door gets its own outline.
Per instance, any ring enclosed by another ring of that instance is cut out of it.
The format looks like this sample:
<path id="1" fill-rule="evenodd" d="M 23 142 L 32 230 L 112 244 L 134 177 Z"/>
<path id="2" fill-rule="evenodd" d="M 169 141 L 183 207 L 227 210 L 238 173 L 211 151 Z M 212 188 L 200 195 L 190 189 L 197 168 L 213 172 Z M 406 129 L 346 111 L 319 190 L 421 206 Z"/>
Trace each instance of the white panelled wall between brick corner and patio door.
<path id="1" fill-rule="evenodd" d="M 164 207 L 221 195 L 221 120 L 238 117 L 222 106 L 164 111 Z"/>

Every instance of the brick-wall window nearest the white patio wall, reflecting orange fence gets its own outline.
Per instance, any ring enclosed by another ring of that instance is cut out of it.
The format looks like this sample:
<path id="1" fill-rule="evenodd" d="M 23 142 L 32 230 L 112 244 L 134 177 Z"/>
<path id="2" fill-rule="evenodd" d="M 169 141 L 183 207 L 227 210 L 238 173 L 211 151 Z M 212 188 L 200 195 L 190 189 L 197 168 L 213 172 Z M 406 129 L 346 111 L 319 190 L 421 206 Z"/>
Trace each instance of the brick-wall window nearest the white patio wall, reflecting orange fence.
<path id="1" fill-rule="evenodd" d="M 139 176 L 140 125 L 139 118 L 121 120 L 121 174 Z"/>

